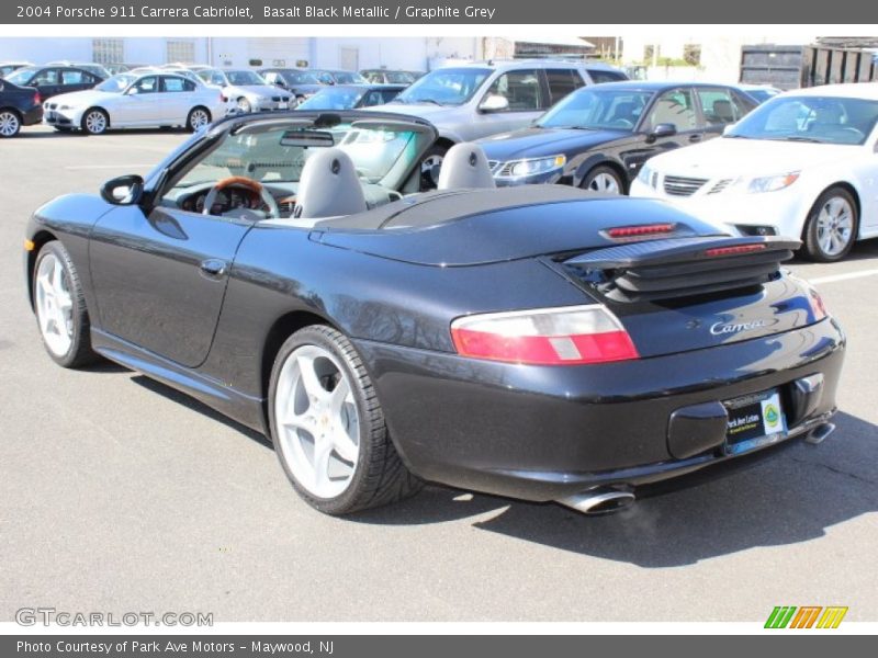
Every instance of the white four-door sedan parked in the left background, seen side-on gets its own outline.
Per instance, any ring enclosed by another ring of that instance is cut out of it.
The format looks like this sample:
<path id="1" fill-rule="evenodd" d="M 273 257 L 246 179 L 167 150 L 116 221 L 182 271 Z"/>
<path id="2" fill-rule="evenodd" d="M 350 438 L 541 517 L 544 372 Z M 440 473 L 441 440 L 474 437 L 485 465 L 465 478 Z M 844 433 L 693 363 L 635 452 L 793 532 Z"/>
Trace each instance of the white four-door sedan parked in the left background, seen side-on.
<path id="1" fill-rule="evenodd" d="M 43 104 L 43 121 L 58 131 L 91 135 L 147 126 L 196 131 L 223 118 L 227 102 L 222 91 L 177 73 L 120 73 L 93 89 L 53 97 Z"/>

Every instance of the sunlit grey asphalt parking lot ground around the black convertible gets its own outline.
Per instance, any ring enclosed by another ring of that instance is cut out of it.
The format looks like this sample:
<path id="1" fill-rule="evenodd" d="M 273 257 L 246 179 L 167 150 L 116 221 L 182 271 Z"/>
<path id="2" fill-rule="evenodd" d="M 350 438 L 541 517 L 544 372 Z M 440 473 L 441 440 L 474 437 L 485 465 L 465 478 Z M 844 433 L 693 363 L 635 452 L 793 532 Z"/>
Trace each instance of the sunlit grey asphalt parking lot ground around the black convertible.
<path id="1" fill-rule="evenodd" d="M 146 172 L 183 133 L 26 128 L 0 146 L 0 621 L 22 606 L 215 621 L 878 620 L 878 240 L 795 262 L 844 325 L 837 431 L 586 518 L 430 487 L 333 519 L 258 434 L 135 373 L 65 371 L 24 297 L 27 216 Z"/>

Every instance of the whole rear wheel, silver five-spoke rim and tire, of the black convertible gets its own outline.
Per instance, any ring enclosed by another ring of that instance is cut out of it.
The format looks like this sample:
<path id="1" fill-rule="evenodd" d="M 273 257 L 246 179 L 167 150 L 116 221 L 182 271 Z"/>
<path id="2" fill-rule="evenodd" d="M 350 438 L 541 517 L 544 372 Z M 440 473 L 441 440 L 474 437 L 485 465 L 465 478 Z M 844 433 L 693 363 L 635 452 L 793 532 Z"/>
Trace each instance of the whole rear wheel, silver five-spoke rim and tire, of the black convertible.
<path id="1" fill-rule="evenodd" d="M 269 385 L 274 451 L 297 494 L 328 514 L 386 504 L 420 489 L 384 423 L 350 341 L 312 326 L 281 347 Z"/>

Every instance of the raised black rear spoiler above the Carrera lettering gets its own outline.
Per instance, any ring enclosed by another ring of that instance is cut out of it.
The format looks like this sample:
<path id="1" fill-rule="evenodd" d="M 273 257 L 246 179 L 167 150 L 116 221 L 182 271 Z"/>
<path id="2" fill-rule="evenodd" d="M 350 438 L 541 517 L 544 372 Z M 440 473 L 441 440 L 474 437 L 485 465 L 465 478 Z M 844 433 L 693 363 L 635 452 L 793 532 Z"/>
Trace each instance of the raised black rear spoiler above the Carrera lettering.
<path id="1" fill-rule="evenodd" d="M 800 246 L 776 236 L 671 238 L 597 249 L 563 264 L 617 302 L 669 299 L 765 283 Z"/>

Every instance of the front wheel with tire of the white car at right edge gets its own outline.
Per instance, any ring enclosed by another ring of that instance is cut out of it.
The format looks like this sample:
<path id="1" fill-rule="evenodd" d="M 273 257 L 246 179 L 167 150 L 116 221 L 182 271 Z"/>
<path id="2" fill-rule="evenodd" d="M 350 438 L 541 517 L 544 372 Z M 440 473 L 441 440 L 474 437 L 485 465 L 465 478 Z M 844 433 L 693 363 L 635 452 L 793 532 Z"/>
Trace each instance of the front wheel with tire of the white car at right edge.
<path id="1" fill-rule="evenodd" d="M 844 188 L 826 190 L 814 203 L 804 226 L 804 251 L 814 261 L 842 260 L 857 237 L 857 204 Z"/>

